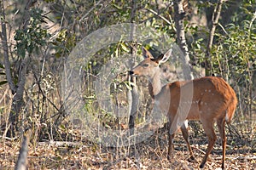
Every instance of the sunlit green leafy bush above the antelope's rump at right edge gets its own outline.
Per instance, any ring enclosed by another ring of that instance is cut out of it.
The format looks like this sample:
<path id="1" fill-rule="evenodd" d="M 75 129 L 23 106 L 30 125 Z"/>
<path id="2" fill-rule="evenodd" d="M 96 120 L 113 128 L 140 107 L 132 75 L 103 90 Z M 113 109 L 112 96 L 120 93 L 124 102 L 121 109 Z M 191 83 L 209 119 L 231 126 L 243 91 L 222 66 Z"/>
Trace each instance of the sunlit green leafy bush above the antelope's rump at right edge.
<path id="1" fill-rule="evenodd" d="M 249 72 L 252 73 L 256 69 L 256 27 L 255 25 L 249 26 L 249 20 L 241 22 L 241 26 L 230 24 L 226 28 L 228 36 L 218 35 L 219 43 L 215 46 L 215 50 L 213 49 L 213 54 L 216 56 L 215 59 L 212 59 L 214 71 L 222 77 L 229 73 L 229 77 L 234 78 L 241 77 L 241 75 L 246 76 L 244 79 L 239 78 L 239 85 L 243 81 L 248 81 Z"/>

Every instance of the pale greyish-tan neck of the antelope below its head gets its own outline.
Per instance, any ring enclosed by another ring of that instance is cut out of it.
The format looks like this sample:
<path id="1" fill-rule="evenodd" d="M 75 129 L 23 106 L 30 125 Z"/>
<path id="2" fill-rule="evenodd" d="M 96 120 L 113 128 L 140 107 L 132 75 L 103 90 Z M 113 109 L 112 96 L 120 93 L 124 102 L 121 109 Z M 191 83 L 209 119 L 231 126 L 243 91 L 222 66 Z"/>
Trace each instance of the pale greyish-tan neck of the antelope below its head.
<path id="1" fill-rule="evenodd" d="M 154 96 L 160 93 L 161 88 L 160 71 L 156 71 L 154 76 L 148 79 L 148 91 L 150 96 L 154 99 Z"/>

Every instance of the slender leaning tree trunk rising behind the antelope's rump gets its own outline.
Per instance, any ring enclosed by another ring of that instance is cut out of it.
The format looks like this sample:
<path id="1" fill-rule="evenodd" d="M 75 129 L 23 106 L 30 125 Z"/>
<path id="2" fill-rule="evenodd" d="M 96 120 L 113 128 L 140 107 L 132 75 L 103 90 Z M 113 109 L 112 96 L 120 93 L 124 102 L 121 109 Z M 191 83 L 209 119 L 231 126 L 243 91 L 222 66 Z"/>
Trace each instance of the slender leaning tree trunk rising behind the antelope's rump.
<path id="1" fill-rule="evenodd" d="M 214 33 L 216 30 L 216 26 L 218 25 L 218 19 L 220 16 L 221 8 L 222 8 L 223 0 L 218 0 L 217 6 L 214 8 L 213 14 L 212 14 L 212 28 L 209 34 L 209 39 L 207 43 L 207 56 L 206 56 L 206 76 L 212 75 L 212 65 L 211 65 L 211 49 L 212 49 L 212 42 Z"/>

